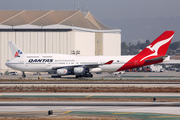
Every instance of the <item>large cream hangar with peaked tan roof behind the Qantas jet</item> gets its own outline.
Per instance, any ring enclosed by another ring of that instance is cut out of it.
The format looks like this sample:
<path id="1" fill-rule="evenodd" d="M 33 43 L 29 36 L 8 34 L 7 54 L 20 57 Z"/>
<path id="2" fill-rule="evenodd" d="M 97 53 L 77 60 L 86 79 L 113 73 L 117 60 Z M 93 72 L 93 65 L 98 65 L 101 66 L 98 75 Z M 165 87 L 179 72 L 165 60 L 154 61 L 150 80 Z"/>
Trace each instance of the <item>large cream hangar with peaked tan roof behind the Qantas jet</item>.
<path id="1" fill-rule="evenodd" d="M 121 30 L 80 10 L 0 11 L 0 71 L 13 58 L 8 41 L 24 53 L 121 55 Z"/>

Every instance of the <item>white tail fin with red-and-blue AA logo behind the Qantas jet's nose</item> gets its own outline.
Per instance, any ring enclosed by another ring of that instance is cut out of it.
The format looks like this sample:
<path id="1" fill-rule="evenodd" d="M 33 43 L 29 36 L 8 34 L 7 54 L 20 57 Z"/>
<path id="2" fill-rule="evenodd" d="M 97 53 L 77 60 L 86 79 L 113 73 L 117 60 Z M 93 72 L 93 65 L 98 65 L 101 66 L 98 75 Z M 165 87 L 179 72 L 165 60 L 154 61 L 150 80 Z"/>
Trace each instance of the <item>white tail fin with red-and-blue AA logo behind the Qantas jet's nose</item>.
<path id="1" fill-rule="evenodd" d="M 12 41 L 9 41 L 8 44 L 14 57 L 17 57 L 20 54 L 23 54 L 23 51 L 17 45 L 15 45 Z"/>

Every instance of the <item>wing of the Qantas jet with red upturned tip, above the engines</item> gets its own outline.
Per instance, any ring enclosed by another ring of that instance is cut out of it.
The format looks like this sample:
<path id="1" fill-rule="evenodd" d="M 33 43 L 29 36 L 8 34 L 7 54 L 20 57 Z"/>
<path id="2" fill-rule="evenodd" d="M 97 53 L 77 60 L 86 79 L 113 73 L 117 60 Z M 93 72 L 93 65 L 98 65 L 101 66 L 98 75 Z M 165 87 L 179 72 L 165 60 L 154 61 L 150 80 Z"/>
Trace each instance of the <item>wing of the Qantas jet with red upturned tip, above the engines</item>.
<path id="1" fill-rule="evenodd" d="M 98 66 L 101 66 L 101 65 L 110 65 L 113 63 L 114 60 L 110 60 L 106 63 L 102 63 L 102 64 L 85 64 L 85 65 L 70 65 L 70 66 L 62 66 L 62 67 L 53 67 L 52 70 L 57 70 L 57 69 L 61 69 L 61 68 L 66 68 L 68 70 L 70 69 L 73 69 L 75 67 L 84 67 L 84 68 L 96 68 Z"/>

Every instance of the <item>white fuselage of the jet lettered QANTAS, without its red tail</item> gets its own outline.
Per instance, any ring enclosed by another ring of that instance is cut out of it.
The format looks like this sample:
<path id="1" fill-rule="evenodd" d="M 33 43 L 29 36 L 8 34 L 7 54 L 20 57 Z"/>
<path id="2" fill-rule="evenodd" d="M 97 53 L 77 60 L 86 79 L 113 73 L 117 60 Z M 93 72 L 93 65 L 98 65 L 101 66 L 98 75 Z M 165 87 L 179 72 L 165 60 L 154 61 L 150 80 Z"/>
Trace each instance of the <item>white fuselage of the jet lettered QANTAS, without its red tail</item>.
<path id="1" fill-rule="evenodd" d="M 6 65 L 23 72 L 53 72 L 54 67 L 102 64 L 90 72 L 115 72 L 133 56 L 74 56 L 64 54 L 22 54 L 9 60 Z M 104 63 L 113 60 L 112 64 Z"/>

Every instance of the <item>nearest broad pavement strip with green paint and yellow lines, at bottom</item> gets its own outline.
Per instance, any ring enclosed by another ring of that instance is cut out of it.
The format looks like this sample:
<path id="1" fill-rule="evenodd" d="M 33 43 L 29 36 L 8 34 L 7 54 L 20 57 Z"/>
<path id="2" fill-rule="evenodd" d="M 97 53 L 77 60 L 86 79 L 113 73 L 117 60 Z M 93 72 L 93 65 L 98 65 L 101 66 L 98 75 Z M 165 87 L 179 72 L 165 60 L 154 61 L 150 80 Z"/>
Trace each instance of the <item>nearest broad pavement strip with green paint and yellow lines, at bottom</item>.
<path id="1" fill-rule="evenodd" d="M 178 102 L 0 102 L 1 117 L 47 117 L 101 115 L 125 116 L 145 120 L 180 119 Z"/>

